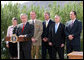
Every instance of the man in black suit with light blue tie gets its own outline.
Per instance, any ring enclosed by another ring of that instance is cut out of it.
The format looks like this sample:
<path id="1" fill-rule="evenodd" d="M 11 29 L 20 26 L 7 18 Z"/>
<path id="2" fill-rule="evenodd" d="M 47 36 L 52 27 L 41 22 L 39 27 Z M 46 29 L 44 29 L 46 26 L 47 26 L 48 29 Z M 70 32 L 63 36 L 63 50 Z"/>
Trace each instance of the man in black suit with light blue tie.
<path id="1" fill-rule="evenodd" d="M 49 45 L 52 46 L 53 59 L 56 59 L 58 52 L 59 58 L 64 59 L 65 26 L 60 23 L 60 16 L 55 16 L 55 23 L 49 28 Z"/>

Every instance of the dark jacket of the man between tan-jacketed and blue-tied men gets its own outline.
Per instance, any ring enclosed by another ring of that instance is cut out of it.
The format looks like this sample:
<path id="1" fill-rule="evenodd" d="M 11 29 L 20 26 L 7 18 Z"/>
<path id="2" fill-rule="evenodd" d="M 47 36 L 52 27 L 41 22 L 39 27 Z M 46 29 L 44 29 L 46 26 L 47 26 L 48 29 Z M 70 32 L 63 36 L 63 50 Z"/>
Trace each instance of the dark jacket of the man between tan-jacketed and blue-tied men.
<path id="1" fill-rule="evenodd" d="M 49 35 L 49 27 L 51 26 L 52 23 L 54 23 L 54 21 L 52 21 L 52 20 L 50 19 L 50 21 L 49 21 L 49 23 L 48 23 L 48 26 L 47 26 L 47 28 L 46 28 L 46 22 L 45 22 L 45 21 L 43 22 L 42 39 L 43 39 L 44 37 L 47 37 L 47 38 L 48 38 L 48 35 Z M 44 42 L 44 41 L 42 40 L 42 43 L 45 44 L 46 46 L 48 46 L 48 42 Z"/>

